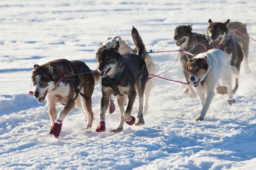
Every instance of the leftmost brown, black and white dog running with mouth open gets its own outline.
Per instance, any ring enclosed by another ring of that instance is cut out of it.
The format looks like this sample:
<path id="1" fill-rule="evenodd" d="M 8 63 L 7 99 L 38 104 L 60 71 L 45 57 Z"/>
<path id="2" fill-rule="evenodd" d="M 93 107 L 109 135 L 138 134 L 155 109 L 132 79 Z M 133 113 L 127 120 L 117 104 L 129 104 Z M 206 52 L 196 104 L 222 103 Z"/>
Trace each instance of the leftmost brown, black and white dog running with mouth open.
<path id="1" fill-rule="evenodd" d="M 53 60 L 41 66 L 34 65 L 32 81 L 34 92 L 38 102 L 46 100 L 49 106 L 49 116 L 52 123 L 50 134 L 59 137 L 62 121 L 67 113 L 75 106 L 87 115 L 87 125 L 85 129 L 90 129 L 93 123 L 92 94 L 94 84 L 99 79 L 99 74 L 79 74 L 81 68 L 89 69 L 82 61 L 68 61 L 66 59 Z M 79 74 L 73 76 L 74 74 Z M 59 84 L 59 79 L 63 76 L 70 76 Z M 64 83 L 63 83 L 64 82 Z M 57 113 L 57 103 L 63 104 L 64 108 Z"/>

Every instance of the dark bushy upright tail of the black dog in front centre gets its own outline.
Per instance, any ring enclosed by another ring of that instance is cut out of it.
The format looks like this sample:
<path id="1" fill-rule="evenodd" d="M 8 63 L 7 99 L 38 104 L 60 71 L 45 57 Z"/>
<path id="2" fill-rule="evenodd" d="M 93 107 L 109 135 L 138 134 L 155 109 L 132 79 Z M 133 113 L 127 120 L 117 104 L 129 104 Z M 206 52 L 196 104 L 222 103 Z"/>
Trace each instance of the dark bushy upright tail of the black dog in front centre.
<path id="1" fill-rule="evenodd" d="M 132 29 L 132 37 L 133 37 L 133 41 L 134 41 L 134 44 L 137 49 L 137 55 L 139 55 L 139 56 L 141 56 L 141 58 L 145 59 L 146 55 L 147 55 L 147 51 L 146 51 L 145 45 L 135 27 L 133 27 L 133 29 Z"/>

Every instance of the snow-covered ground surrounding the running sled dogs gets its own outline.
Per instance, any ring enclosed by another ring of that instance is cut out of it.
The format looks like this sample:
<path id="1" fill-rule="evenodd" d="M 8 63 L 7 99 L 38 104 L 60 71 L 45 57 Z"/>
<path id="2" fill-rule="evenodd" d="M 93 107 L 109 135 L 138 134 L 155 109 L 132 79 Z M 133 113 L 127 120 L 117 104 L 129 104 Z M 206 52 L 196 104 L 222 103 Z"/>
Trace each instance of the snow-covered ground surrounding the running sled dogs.
<path id="1" fill-rule="evenodd" d="M 255 41 L 249 51 L 252 73 L 245 74 L 242 63 L 236 103 L 230 107 L 227 96 L 216 95 L 202 122 L 194 120 L 199 101 L 182 93 L 184 85 L 154 79 L 145 125 L 125 125 L 123 132 L 111 133 L 118 126 L 117 109 L 106 116 L 106 133 L 96 133 L 98 83 L 93 131 L 80 130 L 84 118 L 74 109 L 57 140 L 48 135 L 46 103 L 39 104 L 28 94 L 34 64 L 66 58 L 94 69 L 105 38 L 121 35 L 134 47 L 132 26 L 148 50 L 177 50 L 177 25 L 193 23 L 194 31 L 204 34 L 209 18 L 249 23 L 256 21 L 255 16 L 255 0 L 1 0 L 0 169 L 255 169 Z M 256 25 L 247 29 L 256 38 Z M 160 73 L 173 66 L 177 52 L 151 56 Z M 184 81 L 178 63 L 163 76 Z M 133 115 L 137 105 L 138 101 Z"/>

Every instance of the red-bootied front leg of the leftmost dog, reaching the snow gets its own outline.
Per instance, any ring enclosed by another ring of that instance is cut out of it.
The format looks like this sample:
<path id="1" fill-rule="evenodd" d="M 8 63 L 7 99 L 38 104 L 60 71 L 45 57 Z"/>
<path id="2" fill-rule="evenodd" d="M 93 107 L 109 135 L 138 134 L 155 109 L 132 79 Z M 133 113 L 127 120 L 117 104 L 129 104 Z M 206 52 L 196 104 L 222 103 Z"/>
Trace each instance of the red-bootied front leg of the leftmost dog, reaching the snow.
<path id="1" fill-rule="evenodd" d="M 59 112 L 57 119 L 55 120 L 54 124 L 51 127 L 51 130 L 49 134 L 52 134 L 56 138 L 59 137 L 60 131 L 61 131 L 61 126 L 62 126 L 62 121 L 65 119 L 67 113 L 75 107 L 75 101 L 74 100 L 69 100 L 64 108 Z"/>

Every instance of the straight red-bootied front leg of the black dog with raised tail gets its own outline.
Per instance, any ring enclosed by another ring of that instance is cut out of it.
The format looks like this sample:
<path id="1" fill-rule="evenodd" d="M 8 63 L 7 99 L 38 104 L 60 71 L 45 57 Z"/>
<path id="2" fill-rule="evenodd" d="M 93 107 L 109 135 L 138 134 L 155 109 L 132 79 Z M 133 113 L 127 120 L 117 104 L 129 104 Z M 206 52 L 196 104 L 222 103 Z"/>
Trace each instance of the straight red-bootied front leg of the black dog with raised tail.
<path id="1" fill-rule="evenodd" d="M 98 122 L 98 127 L 96 129 L 96 132 L 105 132 L 106 130 L 105 114 L 108 108 L 108 100 L 110 95 L 111 95 L 110 93 L 103 92 L 103 87 L 102 87 L 102 98 L 100 102 L 99 122 Z"/>

